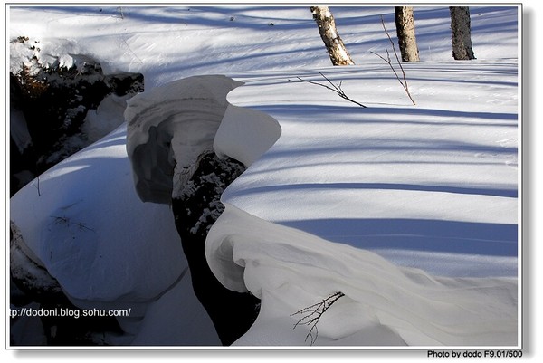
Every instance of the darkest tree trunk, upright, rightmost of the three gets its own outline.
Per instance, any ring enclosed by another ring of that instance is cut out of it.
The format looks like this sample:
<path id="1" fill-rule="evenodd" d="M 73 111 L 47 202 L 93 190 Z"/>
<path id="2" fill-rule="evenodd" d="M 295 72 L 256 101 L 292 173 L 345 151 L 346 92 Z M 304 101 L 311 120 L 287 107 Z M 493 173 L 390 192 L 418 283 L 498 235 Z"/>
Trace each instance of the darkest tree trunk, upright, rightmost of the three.
<path id="1" fill-rule="evenodd" d="M 472 49 L 472 25 L 468 6 L 450 6 L 452 56 L 456 60 L 475 59 Z"/>

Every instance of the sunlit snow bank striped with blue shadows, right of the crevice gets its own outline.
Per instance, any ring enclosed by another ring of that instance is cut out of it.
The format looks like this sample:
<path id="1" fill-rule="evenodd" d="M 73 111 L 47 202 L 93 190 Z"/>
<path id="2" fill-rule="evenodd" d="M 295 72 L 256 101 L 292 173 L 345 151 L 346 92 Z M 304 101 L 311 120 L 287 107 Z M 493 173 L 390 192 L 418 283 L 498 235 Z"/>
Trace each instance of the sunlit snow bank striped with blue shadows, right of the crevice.
<path id="1" fill-rule="evenodd" d="M 324 81 L 316 71 L 242 77 L 228 99 L 277 119 L 281 137 L 223 201 L 432 274 L 517 276 L 517 63 L 406 67 L 416 106 L 386 64 L 322 70 L 367 109 L 288 81 Z"/>

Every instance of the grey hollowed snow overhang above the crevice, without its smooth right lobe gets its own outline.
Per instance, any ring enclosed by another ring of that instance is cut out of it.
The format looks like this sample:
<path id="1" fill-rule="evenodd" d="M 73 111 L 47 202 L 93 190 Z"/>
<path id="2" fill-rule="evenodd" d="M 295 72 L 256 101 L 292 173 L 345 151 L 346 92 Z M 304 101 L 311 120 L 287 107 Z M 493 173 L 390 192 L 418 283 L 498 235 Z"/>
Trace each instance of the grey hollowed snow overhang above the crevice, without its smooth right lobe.
<path id="1" fill-rule="evenodd" d="M 173 180 L 179 181 L 176 189 L 183 187 L 181 176 L 189 176 L 195 159 L 213 148 L 226 94 L 242 84 L 225 76 L 195 76 L 129 100 L 127 150 L 141 200 L 171 202 Z"/>

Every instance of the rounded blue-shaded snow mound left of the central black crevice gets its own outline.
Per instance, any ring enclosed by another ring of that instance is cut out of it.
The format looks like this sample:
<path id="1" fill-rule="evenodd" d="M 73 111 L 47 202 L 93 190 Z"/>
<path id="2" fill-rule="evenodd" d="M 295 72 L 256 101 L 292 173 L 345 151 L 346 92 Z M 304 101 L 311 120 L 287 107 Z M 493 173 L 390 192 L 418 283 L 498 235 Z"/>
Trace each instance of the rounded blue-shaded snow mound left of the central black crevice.
<path id="1" fill-rule="evenodd" d="M 24 243 L 74 300 L 150 301 L 186 267 L 167 206 L 134 193 L 125 135 L 120 127 L 11 198 Z"/>

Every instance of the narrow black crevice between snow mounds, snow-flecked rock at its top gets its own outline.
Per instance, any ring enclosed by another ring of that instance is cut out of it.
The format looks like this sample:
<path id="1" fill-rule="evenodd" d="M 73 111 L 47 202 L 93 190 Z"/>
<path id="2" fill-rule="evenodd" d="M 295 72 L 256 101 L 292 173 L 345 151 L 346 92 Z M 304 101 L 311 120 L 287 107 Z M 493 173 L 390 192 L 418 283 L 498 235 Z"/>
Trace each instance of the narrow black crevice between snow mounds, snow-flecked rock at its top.
<path id="1" fill-rule="evenodd" d="M 195 295 L 213 320 L 224 345 L 231 345 L 249 330 L 260 306 L 260 300 L 251 293 L 225 288 L 205 258 L 207 233 L 224 211 L 220 201 L 224 188 L 244 170 L 243 164 L 233 158 L 204 152 L 196 160 L 194 174 L 172 201 Z"/>

